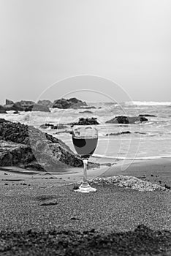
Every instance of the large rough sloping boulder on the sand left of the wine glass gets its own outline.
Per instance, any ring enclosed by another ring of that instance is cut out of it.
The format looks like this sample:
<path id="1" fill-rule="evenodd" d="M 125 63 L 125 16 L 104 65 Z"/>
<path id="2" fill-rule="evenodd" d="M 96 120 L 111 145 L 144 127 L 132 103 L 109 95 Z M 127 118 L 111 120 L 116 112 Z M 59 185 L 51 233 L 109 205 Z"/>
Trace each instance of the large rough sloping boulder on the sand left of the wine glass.
<path id="1" fill-rule="evenodd" d="M 64 142 L 34 127 L 2 120 L 0 139 L 0 166 L 47 171 L 83 166 L 80 157 Z"/>

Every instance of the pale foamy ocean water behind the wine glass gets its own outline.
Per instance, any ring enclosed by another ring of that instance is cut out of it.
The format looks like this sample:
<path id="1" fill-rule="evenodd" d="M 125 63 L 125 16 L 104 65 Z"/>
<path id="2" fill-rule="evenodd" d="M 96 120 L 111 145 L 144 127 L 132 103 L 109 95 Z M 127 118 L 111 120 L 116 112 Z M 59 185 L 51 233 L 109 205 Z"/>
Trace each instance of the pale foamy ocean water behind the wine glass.
<path id="1" fill-rule="evenodd" d="M 51 109 L 50 113 L 20 112 L 1 114 L 1 118 L 9 121 L 19 121 L 22 124 L 69 124 L 78 121 L 80 117 L 96 117 L 99 125 L 99 140 L 94 157 L 108 159 L 115 162 L 117 159 L 156 159 L 171 157 L 171 102 L 123 102 L 121 105 L 113 102 L 88 102 L 96 109 L 88 109 L 92 113 L 80 113 L 85 109 Z M 115 116 L 138 116 L 149 114 L 148 121 L 142 124 L 105 124 L 105 121 Z M 71 128 L 42 129 L 63 140 L 71 149 Z"/>

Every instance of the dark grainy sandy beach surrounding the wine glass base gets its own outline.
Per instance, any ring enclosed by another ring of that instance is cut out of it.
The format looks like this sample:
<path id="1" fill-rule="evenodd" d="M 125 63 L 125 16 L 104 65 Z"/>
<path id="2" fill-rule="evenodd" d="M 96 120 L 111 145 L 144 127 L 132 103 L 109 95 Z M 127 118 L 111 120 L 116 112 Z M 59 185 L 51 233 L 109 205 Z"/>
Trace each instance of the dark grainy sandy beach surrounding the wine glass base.
<path id="1" fill-rule="evenodd" d="M 126 170 L 122 170 L 124 166 L 120 162 L 112 167 L 88 170 L 88 178 L 128 175 L 170 187 L 170 167 L 171 159 L 137 161 Z M 1 167 L 1 255 L 19 252 L 20 255 L 26 252 L 28 255 L 170 255 L 170 190 L 139 192 L 94 184 L 97 192 L 83 195 L 72 190 L 81 177 L 81 168 L 70 168 L 60 174 Z M 15 236 L 10 235 L 12 232 Z M 141 242 L 132 242 L 137 239 L 137 233 Z M 38 249 L 32 243 L 33 234 Z M 39 236 L 45 244 L 53 240 L 51 247 L 41 247 Z M 94 244 L 90 244 L 88 236 Z M 106 236 L 111 240 L 108 246 L 105 243 L 99 246 Z M 18 242 L 21 237 L 22 246 Z M 153 240 L 152 244 L 149 239 Z M 65 240 L 68 241 L 66 247 L 62 244 Z M 90 246 L 88 251 L 86 244 Z"/>

